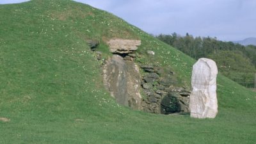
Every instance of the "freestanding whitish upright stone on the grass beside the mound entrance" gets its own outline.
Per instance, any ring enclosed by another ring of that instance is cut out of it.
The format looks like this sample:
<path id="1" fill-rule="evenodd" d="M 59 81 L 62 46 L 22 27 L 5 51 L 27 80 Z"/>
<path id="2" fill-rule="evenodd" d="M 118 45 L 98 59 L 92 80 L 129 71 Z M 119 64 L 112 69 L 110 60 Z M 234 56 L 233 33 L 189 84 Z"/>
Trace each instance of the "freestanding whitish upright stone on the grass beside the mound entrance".
<path id="1" fill-rule="evenodd" d="M 189 98 L 190 116 L 193 118 L 215 118 L 218 113 L 216 95 L 216 63 L 200 58 L 193 65 L 191 77 L 192 93 Z"/>

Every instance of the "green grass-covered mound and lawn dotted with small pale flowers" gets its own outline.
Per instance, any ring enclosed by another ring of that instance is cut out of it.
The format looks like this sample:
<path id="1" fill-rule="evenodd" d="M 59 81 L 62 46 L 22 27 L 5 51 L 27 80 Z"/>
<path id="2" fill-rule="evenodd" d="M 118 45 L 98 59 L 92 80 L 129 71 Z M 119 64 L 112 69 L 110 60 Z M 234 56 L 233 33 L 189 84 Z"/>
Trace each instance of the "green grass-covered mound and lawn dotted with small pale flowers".
<path id="1" fill-rule="evenodd" d="M 108 12 L 67 0 L 0 5 L 0 143 L 255 143 L 256 93 L 221 75 L 215 119 L 116 104 L 86 44 L 99 40 L 108 58 L 111 38 L 140 39 L 140 61 L 190 85 L 195 60 Z"/>

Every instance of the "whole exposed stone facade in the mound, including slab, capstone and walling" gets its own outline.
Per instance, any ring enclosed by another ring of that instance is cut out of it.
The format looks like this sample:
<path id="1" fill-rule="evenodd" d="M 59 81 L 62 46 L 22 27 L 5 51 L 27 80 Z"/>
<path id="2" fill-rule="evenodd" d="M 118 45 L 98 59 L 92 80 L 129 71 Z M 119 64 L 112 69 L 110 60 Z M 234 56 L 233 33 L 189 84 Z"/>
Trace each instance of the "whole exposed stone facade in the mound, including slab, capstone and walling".
<path id="1" fill-rule="evenodd" d="M 188 113 L 190 92 L 175 86 L 177 79 L 172 70 L 134 63 L 140 57 L 135 53 L 140 44 L 140 40 L 109 40 L 109 51 L 113 56 L 104 61 L 102 69 L 104 85 L 111 96 L 118 104 L 148 113 Z M 101 60 L 102 53 L 96 51 L 99 42 L 91 40 L 88 45 L 95 52 L 97 60 Z M 155 54 L 154 51 L 147 53 Z M 140 69 L 144 71 L 143 76 Z"/>

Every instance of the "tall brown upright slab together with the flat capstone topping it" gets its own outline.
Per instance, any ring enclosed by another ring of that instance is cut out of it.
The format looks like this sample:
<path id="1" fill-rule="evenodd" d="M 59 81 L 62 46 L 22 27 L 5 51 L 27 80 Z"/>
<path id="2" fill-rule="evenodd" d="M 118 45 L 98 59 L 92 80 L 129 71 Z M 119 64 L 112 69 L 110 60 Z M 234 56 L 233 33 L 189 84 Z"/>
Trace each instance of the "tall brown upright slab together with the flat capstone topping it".
<path id="1" fill-rule="evenodd" d="M 142 109 L 140 95 L 141 76 L 138 65 L 134 63 L 134 52 L 140 40 L 113 39 L 108 42 L 113 53 L 103 67 L 104 85 L 118 104 L 132 109 Z"/>

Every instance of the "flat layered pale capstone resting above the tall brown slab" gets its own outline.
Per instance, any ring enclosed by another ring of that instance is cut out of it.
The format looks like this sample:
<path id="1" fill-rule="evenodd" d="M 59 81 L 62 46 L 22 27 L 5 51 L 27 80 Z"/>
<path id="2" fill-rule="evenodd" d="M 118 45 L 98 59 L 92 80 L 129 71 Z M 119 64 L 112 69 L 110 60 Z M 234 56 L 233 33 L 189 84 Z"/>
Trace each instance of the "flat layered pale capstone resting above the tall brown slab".
<path id="1" fill-rule="evenodd" d="M 107 42 L 112 53 L 133 53 L 141 45 L 141 40 L 112 39 Z"/>

